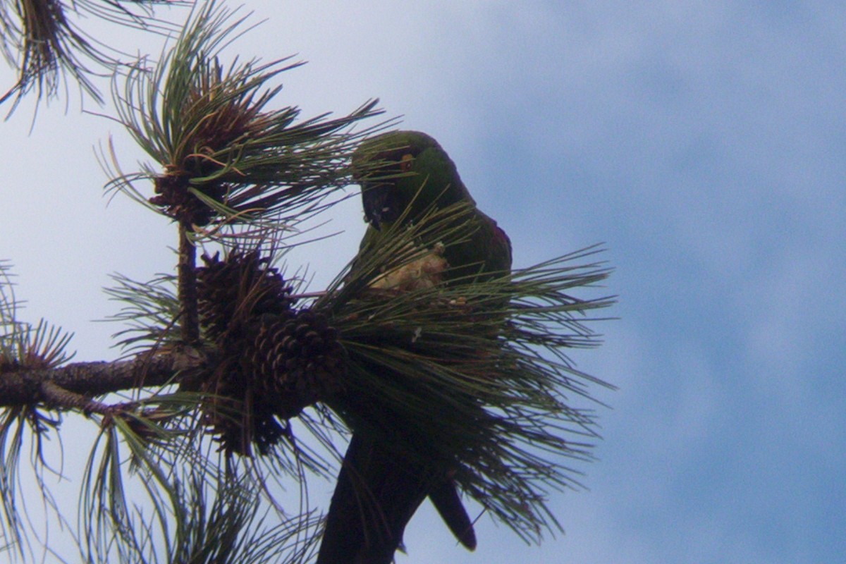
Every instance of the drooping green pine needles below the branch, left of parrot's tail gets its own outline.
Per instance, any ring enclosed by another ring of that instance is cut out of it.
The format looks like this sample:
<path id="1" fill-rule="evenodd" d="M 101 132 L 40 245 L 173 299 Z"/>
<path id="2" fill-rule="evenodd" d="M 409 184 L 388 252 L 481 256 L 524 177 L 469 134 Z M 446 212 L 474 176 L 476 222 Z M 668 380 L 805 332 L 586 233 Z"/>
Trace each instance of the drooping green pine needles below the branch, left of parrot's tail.
<path id="1" fill-rule="evenodd" d="M 156 401 L 159 408 L 195 402 L 195 397 L 177 394 Z M 118 561 L 168 564 L 288 563 L 309 556 L 319 516 L 281 517 L 262 508 L 259 477 L 216 461 L 197 448 L 202 441 L 195 435 L 168 426 L 165 430 L 143 415 L 104 424 L 80 503 L 85 561 L 113 561 L 116 553 Z M 146 494 L 146 504 L 140 504 L 139 491 Z M 140 507 L 151 507 L 151 512 Z"/>

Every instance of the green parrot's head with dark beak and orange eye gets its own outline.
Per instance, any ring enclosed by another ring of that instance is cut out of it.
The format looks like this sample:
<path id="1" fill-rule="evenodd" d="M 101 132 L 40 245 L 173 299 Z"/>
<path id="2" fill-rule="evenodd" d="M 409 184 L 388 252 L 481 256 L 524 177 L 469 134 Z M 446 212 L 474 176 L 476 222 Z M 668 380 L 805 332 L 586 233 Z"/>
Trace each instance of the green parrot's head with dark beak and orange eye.
<path id="1" fill-rule="evenodd" d="M 419 131 L 392 131 L 365 140 L 352 164 L 365 220 L 376 229 L 406 211 L 404 221 L 415 222 L 431 206 L 475 203 L 446 151 Z"/>

